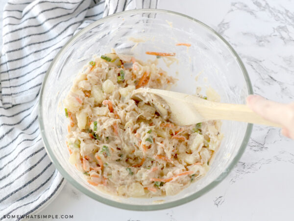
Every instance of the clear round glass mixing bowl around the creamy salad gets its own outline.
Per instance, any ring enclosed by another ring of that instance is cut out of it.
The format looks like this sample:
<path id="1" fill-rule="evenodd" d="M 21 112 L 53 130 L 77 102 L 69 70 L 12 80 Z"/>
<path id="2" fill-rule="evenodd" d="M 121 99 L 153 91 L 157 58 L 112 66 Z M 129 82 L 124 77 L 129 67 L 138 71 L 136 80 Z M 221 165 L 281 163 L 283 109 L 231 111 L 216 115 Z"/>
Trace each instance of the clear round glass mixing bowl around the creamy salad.
<path id="1" fill-rule="evenodd" d="M 192 46 L 175 46 L 176 43 Z M 221 102 L 245 104 L 252 87 L 244 64 L 234 49 L 212 28 L 176 12 L 142 9 L 117 13 L 82 29 L 60 50 L 52 61 L 41 90 L 39 123 L 51 161 L 74 187 L 88 196 L 111 206 L 130 210 L 159 210 L 189 202 L 208 192 L 223 180 L 245 150 L 252 125 L 223 121 L 224 138 L 202 179 L 182 192 L 164 197 L 124 198 L 100 192 L 89 185 L 80 172 L 70 165 L 66 147 L 67 119 L 62 100 L 78 70 L 92 55 L 111 52 L 156 59 L 146 51 L 176 53 L 169 67 L 160 58 L 159 66 L 179 79 L 172 90 L 195 94 L 198 86 L 211 86 L 221 95 Z M 196 81 L 197 79 L 197 81 Z"/>

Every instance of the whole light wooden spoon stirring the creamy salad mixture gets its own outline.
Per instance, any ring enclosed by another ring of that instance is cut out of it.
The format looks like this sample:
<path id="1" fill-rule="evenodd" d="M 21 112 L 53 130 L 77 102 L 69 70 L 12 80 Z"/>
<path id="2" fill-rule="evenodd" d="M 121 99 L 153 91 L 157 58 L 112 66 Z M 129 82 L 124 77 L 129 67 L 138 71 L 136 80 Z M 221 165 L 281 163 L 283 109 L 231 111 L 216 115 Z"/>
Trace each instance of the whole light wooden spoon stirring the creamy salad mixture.
<path id="1" fill-rule="evenodd" d="M 180 126 L 196 124 L 207 120 L 234 120 L 282 127 L 280 124 L 268 121 L 257 115 L 246 105 L 212 102 L 194 95 L 146 87 L 136 89 L 132 93 L 133 98 L 149 97 L 151 100 L 156 100 L 158 98 L 156 95 L 164 100 L 159 101 L 160 103 L 165 102 L 169 107 L 172 122 Z"/>

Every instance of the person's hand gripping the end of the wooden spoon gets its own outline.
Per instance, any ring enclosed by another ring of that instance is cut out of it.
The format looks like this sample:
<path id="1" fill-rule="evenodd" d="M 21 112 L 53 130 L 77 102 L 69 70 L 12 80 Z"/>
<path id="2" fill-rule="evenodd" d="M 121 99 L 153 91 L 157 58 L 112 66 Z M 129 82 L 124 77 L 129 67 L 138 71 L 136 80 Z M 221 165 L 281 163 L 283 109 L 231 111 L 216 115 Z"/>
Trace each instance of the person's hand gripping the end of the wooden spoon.
<path id="1" fill-rule="evenodd" d="M 263 118 L 283 125 L 282 134 L 294 139 L 294 103 L 281 104 L 259 95 L 249 95 L 247 106 Z"/>

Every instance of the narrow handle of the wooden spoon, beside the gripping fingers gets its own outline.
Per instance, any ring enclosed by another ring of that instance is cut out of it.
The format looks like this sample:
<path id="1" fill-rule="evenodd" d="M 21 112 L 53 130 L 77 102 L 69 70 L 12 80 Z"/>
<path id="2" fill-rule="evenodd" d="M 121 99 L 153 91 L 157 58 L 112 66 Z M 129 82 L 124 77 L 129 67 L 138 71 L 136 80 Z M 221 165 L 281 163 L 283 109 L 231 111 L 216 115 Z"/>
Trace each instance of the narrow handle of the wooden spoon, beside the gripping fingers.
<path id="1" fill-rule="evenodd" d="M 215 107 L 213 109 L 215 114 L 210 113 L 210 119 L 213 118 L 216 120 L 236 120 L 254 124 L 263 124 L 273 127 L 283 127 L 278 123 L 274 123 L 264 119 L 263 117 L 249 109 L 246 105 L 215 103 Z M 207 114 L 205 113 L 204 115 L 207 116 Z"/>

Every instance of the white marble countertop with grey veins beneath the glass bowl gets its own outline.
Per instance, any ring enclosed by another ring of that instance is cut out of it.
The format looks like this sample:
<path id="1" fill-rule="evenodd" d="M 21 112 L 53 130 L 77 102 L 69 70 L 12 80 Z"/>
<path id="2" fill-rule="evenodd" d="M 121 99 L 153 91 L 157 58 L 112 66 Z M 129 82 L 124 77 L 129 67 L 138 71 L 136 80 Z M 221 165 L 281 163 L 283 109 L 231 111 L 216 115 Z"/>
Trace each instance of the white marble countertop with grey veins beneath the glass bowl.
<path id="1" fill-rule="evenodd" d="M 245 63 L 254 92 L 294 101 L 294 0 L 160 0 L 216 29 Z M 74 221 L 290 221 L 294 218 L 294 141 L 280 130 L 254 126 L 240 162 L 216 188 L 172 209 L 116 209 L 67 183 L 40 214 Z"/>

